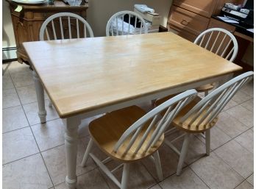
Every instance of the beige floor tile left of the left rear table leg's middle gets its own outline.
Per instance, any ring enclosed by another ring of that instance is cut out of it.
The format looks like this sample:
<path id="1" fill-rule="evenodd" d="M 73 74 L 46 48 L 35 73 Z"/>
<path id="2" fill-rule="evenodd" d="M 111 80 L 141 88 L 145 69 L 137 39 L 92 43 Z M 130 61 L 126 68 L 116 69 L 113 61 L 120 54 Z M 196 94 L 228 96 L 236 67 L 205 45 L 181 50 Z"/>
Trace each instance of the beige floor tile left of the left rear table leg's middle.
<path id="1" fill-rule="evenodd" d="M 35 85 L 27 85 L 25 87 L 17 88 L 17 92 L 21 99 L 21 104 L 29 104 L 38 101 L 35 93 Z M 44 93 L 44 99 L 49 99 L 46 93 Z"/>

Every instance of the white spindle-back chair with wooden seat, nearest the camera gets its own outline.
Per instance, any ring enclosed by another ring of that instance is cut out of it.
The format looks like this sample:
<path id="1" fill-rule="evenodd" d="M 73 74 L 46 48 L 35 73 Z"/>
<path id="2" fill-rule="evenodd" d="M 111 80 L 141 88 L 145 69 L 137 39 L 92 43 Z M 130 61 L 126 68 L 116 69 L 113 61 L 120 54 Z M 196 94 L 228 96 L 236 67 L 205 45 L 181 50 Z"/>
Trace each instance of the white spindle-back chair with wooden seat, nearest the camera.
<path id="1" fill-rule="evenodd" d="M 85 166 L 88 157 L 95 161 L 99 168 L 121 189 L 127 188 L 129 165 L 145 157 L 151 157 L 157 176 L 163 179 L 158 148 L 164 140 L 164 132 L 177 113 L 182 110 L 195 96 L 196 90 L 188 90 L 169 99 L 159 107 L 155 107 L 149 113 L 145 113 L 140 107 L 132 106 L 121 110 L 115 110 L 93 120 L 89 124 L 90 141 L 82 160 Z M 174 107 L 175 105 L 175 107 Z M 162 118 L 160 113 L 165 112 Z M 100 161 L 90 150 L 96 143 L 107 158 Z M 118 165 L 110 171 L 104 163 L 110 159 L 118 160 Z M 123 168 L 121 182 L 116 179 L 113 172 Z"/>

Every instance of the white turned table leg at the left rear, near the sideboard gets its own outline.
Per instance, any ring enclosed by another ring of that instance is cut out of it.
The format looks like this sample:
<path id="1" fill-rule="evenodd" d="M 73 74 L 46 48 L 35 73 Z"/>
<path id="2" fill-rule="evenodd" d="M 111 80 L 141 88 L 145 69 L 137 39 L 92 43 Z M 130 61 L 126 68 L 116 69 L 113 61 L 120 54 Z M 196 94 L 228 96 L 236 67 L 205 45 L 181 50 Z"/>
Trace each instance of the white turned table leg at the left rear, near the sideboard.
<path id="1" fill-rule="evenodd" d="M 37 93 L 37 99 L 38 99 L 38 116 L 40 118 L 41 124 L 46 123 L 46 107 L 45 107 L 45 101 L 44 101 L 44 90 L 43 85 L 40 82 L 40 79 L 38 78 L 38 74 L 33 71 L 33 79 L 35 82 L 35 91 Z"/>

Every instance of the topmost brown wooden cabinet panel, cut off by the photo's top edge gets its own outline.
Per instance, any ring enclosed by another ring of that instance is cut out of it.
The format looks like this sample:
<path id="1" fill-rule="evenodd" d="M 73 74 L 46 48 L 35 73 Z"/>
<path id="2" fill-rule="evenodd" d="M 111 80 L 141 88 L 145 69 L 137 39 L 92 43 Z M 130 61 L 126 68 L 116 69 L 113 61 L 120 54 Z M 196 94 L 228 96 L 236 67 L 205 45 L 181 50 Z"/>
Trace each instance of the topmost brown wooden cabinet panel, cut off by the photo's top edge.
<path id="1" fill-rule="evenodd" d="M 173 4 L 193 13 L 210 18 L 216 5 L 216 0 L 174 0 Z"/>

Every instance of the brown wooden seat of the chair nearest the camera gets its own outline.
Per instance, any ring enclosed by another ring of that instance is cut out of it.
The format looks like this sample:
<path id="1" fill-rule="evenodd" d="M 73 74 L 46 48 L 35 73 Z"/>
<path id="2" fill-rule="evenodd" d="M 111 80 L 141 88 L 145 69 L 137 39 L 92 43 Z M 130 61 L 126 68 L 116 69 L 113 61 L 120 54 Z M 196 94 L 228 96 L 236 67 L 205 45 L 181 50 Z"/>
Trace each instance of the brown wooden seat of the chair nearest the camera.
<path id="1" fill-rule="evenodd" d="M 137 154 L 134 153 L 137 143 L 141 140 L 144 131 L 149 126 L 150 121 L 148 121 L 141 133 L 138 135 L 138 138 L 135 140 L 132 148 L 124 154 L 124 151 L 129 143 L 129 140 L 124 142 L 124 145 L 118 149 L 117 152 L 113 151 L 115 143 L 121 138 L 121 135 L 135 123 L 139 118 L 145 115 L 146 112 L 142 110 L 140 107 L 132 106 L 126 107 L 121 110 L 116 110 L 111 113 L 107 113 L 103 115 L 101 118 L 97 118 L 89 124 L 89 132 L 91 138 L 93 138 L 93 142 L 96 143 L 102 151 L 104 151 L 107 155 L 112 157 L 115 160 L 119 160 L 121 162 L 131 162 L 135 160 L 141 160 L 144 157 L 148 157 L 152 155 L 154 151 L 160 147 L 163 143 L 164 135 L 161 136 L 160 140 L 154 145 L 154 148 L 150 148 L 149 151 L 144 153 L 144 149 L 146 147 L 147 142 L 143 143 L 142 148 L 138 151 Z M 146 138 L 146 141 L 149 140 L 150 136 L 154 132 L 154 129 L 149 133 L 149 136 Z"/>

